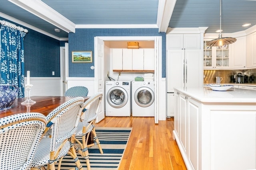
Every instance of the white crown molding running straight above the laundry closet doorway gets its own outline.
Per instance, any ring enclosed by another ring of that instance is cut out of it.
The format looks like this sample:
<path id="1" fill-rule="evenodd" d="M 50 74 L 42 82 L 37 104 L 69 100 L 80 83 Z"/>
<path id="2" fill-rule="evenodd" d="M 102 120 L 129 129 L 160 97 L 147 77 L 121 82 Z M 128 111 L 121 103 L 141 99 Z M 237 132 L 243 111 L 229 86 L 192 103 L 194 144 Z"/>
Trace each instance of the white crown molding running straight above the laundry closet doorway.
<path id="1" fill-rule="evenodd" d="M 76 28 L 158 28 L 156 24 L 78 24 Z"/>

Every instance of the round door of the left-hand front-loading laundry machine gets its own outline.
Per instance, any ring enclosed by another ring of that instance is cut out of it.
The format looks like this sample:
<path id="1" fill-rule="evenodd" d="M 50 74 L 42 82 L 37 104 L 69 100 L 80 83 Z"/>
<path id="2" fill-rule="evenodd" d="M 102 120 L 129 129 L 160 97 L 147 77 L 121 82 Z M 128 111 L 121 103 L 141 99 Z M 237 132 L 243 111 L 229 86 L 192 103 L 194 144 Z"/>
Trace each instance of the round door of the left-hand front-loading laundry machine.
<path id="1" fill-rule="evenodd" d="M 114 108 L 121 108 L 126 105 L 128 101 L 128 94 L 126 90 L 121 87 L 112 87 L 107 93 L 108 104 Z"/>

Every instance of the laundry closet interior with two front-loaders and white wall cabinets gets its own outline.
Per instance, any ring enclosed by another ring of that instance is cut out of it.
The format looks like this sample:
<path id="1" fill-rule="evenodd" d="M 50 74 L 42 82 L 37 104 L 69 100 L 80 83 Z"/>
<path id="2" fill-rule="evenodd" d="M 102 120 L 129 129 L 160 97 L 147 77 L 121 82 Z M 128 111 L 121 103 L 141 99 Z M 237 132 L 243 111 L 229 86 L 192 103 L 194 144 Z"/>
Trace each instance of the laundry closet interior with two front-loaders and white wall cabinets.
<path id="1" fill-rule="evenodd" d="M 154 41 L 104 41 L 106 116 L 154 117 Z"/>

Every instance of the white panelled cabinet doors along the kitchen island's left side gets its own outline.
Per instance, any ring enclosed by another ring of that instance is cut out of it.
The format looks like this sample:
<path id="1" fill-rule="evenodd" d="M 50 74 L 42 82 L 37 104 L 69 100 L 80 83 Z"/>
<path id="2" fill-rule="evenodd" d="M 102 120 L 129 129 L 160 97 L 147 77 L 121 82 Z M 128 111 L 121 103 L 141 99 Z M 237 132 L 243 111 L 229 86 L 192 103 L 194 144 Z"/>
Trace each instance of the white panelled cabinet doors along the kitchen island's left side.
<path id="1" fill-rule="evenodd" d="M 174 137 L 189 170 L 198 170 L 200 104 L 180 92 L 174 93 Z M 178 138 L 178 140 L 177 140 Z M 186 157 L 184 157 L 186 155 Z"/>

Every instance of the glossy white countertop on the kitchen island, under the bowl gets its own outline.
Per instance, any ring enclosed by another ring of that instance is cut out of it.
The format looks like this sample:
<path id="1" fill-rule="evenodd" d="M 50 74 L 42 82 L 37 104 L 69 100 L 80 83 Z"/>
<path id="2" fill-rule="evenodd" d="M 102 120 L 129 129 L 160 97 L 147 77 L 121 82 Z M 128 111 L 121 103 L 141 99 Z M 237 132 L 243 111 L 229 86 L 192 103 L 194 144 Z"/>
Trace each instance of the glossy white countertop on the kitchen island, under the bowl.
<path id="1" fill-rule="evenodd" d="M 214 103 L 254 103 L 256 106 L 256 90 L 230 88 L 227 91 L 214 91 L 204 88 L 174 88 L 200 102 Z"/>

